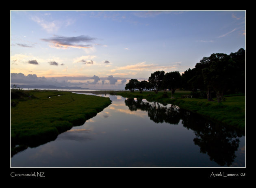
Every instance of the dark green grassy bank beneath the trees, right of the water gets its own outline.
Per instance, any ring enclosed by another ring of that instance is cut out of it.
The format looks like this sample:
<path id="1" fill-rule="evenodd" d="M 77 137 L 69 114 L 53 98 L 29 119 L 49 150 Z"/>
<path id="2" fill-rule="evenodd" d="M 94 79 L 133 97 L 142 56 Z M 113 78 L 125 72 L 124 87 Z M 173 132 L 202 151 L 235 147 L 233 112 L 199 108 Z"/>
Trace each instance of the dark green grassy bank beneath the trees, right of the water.
<path id="1" fill-rule="evenodd" d="M 144 98 L 148 101 L 157 101 L 167 104 L 174 104 L 180 108 L 196 112 L 200 115 L 219 121 L 228 125 L 235 126 L 241 130 L 245 130 L 245 95 L 241 96 L 224 96 L 226 101 L 218 103 L 215 101 L 207 101 L 207 99 L 199 98 L 182 98 L 189 95 L 190 91 L 176 91 L 174 99 L 171 99 L 171 92 L 159 91 L 155 94 L 153 91 L 118 91 L 116 95 L 123 97 Z"/>

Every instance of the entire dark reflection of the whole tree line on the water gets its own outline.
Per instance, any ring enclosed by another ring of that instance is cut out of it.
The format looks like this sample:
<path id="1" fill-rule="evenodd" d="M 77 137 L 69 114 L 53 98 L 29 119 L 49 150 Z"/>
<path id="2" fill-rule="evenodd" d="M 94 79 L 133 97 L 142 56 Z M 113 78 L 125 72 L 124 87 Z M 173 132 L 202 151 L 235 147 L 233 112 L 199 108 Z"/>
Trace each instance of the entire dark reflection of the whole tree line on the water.
<path id="1" fill-rule="evenodd" d="M 243 136 L 244 132 L 207 120 L 172 104 L 147 102 L 134 98 L 127 98 L 125 104 L 131 111 L 148 112 L 148 116 L 155 123 L 165 122 L 177 125 L 182 120 L 183 126 L 195 133 L 193 142 L 200 147 L 201 153 L 207 153 L 210 160 L 220 166 L 231 166 L 234 162 L 235 151 L 238 150 L 240 143 L 239 137 Z"/>

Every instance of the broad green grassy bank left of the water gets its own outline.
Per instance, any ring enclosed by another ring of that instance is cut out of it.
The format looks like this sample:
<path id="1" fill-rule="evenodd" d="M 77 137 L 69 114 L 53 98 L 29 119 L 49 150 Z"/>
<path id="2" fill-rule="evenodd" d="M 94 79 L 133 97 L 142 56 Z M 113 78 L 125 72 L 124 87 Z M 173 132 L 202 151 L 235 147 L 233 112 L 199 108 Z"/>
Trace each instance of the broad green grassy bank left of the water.
<path id="1" fill-rule="evenodd" d="M 34 147 L 54 140 L 61 132 L 82 125 L 111 104 L 107 97 L 65 91 L 16 90 L 14 93 L 11 95 L 11 145 L 15 151 L 18 150 L 15 145 Z"/>

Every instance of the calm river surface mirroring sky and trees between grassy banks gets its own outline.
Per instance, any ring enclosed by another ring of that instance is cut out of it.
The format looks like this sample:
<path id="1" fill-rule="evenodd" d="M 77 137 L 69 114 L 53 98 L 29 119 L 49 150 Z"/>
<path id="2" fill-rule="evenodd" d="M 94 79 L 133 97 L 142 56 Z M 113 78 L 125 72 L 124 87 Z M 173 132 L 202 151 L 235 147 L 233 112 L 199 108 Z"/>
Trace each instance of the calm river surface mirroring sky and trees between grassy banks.
<path id="1" fill-rule="evenodd" d="M 56 140 L 17 153 L 11 167 L 245 167 L 240 132 L 178 106 L 98 96 L 112 104 Z"/>

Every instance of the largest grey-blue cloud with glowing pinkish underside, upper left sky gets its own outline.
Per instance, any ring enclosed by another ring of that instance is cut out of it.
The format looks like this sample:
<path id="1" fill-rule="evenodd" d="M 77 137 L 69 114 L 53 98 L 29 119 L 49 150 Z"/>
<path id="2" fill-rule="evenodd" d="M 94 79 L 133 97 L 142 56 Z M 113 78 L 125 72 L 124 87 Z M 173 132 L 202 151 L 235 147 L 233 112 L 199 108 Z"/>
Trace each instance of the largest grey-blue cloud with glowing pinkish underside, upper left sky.
<path id="1" fill-rule="evenodd" d="M 93 41 L 95 38 L 80 35 L 78 37 L 63 37 L 54 35 L 54 37 L 48 39 L 41 39 L 50 43 L 52 48 L 93 48 L 89 44 L 78 44 L 80 42 L 87 43 Z"/>

